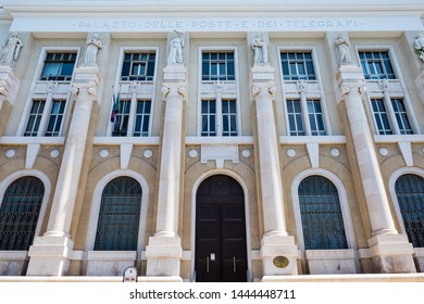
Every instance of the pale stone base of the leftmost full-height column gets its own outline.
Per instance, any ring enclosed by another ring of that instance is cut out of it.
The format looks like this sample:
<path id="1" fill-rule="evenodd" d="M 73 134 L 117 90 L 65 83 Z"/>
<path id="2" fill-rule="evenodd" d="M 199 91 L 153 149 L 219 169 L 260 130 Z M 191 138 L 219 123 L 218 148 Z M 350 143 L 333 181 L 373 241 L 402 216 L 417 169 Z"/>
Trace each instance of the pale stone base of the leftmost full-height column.
<path id="1" fill-rule="evenodd" d="M 36 237 L 29 248 L 27 276 L 65 276 L 74 242 L 67 237 Z"/>

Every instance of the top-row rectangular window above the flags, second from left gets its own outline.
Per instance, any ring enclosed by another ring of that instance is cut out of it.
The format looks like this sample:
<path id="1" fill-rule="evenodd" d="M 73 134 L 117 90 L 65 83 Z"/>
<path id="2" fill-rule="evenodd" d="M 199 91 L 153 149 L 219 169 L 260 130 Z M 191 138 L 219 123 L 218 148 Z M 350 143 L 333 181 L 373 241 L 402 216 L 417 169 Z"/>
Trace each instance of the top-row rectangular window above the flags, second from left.
<path id="1" fill-rule="evenodd" d="M 152 81 L 154 77 L 155 53 L 125 53 L 121 80 Z"/>

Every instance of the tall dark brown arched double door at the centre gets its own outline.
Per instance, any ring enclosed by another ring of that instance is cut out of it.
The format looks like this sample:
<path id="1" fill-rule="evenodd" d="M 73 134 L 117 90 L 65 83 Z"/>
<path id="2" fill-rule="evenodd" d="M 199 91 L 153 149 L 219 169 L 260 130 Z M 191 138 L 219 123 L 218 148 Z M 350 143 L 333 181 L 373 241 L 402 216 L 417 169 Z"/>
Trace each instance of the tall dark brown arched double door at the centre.
<path id="1" fill-rule="evenodd" d="M 205 179 L 196 197 L 196 281 L 247 281 L 245 194 L 226 175 Z"/>

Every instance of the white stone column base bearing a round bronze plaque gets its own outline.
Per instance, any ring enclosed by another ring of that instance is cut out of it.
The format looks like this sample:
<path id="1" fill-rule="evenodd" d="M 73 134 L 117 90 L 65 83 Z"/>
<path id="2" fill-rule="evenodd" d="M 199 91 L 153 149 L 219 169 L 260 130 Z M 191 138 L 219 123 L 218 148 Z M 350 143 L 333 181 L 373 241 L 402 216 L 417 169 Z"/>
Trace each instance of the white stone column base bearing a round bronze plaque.
<path id="1" fill-rule="evenodd" d="M 292 236 L 264 236 L 261 244 L 263 276 L 298 274 L 298 246 Z"/>

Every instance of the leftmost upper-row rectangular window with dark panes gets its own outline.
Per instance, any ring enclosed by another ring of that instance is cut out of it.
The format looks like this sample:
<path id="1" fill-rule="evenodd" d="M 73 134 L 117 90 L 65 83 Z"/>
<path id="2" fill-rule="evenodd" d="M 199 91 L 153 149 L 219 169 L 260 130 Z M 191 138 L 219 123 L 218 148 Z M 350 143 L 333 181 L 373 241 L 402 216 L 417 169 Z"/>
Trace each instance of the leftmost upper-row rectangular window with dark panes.
<path id="1" fill-rule="evenodd" d="M 40 80 L 71 81 L 76 53 L 47 53 Z"/>

